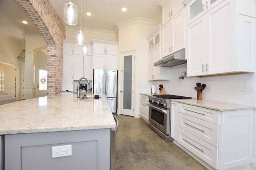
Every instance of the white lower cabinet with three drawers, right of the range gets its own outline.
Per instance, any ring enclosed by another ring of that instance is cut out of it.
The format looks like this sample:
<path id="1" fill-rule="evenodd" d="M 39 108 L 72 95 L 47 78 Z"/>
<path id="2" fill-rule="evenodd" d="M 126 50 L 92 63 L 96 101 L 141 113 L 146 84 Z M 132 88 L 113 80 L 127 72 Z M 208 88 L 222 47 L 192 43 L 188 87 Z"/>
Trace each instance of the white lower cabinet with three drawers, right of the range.
<path id="1" fill-rule="evenodd" d="M 171 116 L 171 137 L 202 164 L 226 170 L 252 163 L 253 109 L 217 111 L 172 102 Z"/>

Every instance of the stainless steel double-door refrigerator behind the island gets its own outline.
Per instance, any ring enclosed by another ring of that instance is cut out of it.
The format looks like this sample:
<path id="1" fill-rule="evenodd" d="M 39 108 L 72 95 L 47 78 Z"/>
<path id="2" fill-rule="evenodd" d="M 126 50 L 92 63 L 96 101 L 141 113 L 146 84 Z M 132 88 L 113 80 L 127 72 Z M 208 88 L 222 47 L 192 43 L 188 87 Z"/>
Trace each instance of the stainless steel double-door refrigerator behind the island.
<path id="1" fill-rule="evenodd" d="M 94 69 L 93 93 L 105 94 L 112 113 L 116 113 L 117 70 Z"/>

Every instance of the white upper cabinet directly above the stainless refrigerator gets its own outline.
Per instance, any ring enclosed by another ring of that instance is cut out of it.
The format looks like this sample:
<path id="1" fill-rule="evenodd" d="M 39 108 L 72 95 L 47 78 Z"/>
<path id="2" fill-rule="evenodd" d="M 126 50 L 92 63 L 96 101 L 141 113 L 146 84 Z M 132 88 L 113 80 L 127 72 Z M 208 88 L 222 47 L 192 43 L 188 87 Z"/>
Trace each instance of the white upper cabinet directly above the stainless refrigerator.
<path id="1" fill-rule="evenodd" d="M 93 68 L 118 68 L 118 42 L 91 40 L 93 43 Z"/>

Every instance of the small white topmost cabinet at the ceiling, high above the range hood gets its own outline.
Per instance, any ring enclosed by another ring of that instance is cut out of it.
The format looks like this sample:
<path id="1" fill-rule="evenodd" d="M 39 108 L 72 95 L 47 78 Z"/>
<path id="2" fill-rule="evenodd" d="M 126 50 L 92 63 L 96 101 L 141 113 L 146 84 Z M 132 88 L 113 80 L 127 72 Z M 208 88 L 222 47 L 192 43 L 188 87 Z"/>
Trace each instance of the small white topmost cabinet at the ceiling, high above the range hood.
<path id="1" fill-rule="evenodd" d="M 162 6 L 162 25 L 172 19 L 183 7 L 183 0 L 167 0 Z"/>

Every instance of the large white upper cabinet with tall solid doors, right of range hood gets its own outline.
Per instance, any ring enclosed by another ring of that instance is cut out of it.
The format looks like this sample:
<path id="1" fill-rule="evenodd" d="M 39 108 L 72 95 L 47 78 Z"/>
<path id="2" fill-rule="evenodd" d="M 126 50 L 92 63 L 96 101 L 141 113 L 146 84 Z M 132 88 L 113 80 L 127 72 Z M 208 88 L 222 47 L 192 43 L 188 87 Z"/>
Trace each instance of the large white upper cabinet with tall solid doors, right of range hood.
<path id="1" fill-rule="evenodd" d="M 238 15 L 237 2 L 224 0 L 188 25 L 188 76 L 255 72 L 255 18 Z"/>

